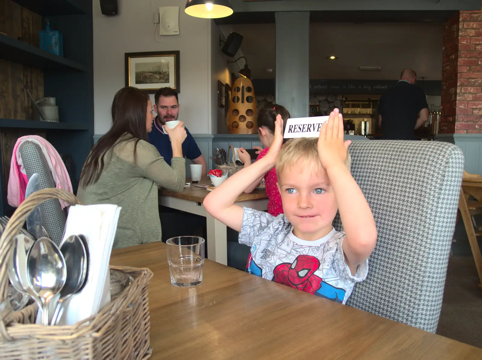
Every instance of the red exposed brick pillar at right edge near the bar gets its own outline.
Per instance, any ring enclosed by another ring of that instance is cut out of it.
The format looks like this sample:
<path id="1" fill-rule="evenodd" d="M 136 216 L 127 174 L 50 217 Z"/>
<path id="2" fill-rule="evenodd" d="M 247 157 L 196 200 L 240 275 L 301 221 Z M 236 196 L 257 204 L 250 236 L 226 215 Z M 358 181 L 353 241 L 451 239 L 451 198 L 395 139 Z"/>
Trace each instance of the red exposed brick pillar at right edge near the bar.
<path id="1" fill-rule="evenodd" d="M 482 11 L 461 11 L 443 31 L 440 133 L 482 133 Z"/>

